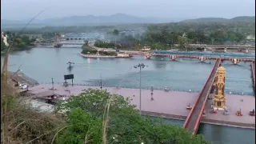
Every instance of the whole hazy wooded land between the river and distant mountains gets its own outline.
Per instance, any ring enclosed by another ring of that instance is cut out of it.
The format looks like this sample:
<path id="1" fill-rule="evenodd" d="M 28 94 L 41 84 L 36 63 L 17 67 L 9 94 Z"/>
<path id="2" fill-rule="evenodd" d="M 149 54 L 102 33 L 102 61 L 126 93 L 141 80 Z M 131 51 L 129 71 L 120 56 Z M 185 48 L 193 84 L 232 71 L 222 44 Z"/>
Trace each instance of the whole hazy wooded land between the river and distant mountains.
<path id="1" fill-rule="evenodd" d="M 234 45 L 255 37 L 254 17 L 198 18 L 183 22 L 161 24 L 123 24 L 111 26 L 46 26 L 26 30 L 26 34 L 42 34 L 52 38 L 54 33 L 102 33 L 110 42 L 95 43 L 97 47 L 120 49 L 151 46 L 153 49 L 185 49 L 186 44 Z M 177 47 L 179 44 L 179 47 Z"/>

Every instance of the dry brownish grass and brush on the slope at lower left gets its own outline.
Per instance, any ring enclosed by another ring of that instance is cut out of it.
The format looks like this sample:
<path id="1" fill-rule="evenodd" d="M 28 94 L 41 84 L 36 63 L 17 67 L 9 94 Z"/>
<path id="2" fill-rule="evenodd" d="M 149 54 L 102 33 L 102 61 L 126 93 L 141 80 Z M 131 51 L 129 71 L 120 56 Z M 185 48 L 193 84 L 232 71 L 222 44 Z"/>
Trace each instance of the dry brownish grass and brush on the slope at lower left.
<path id="1" fill-rule="evenodd" d="M 4 71 L 1 73 L 1 143 L 52 142 L 54 134 L 65 125 L 63 119 L 31 108 L 29 100 L 21 98 L 5 77 Z"/>

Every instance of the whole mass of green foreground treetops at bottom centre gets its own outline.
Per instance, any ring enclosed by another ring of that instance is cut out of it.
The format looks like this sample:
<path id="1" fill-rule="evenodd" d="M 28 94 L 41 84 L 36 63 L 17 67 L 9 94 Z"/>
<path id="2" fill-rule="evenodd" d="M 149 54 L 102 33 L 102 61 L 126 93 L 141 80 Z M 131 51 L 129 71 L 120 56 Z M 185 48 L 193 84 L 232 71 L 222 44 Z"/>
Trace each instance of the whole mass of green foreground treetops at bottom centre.
<path id="1" fill-rule="evenodd" d="M 111 100 L 110 100 L 111 99 Z M 106 105 L 110 103 L 110 110 Z M 66 112 L 67 128 L 62 130 L 61 143 L 101 143 L 102 118 L 109 115 L 107 125 L 108 143 L 206 143 L 202 135 L 191 137 L 191 133 L 179 126 L 141 117 L 130 99 L 106 90 L 86 90 L 77 97 L 71 97 L 58 106 Z"/>

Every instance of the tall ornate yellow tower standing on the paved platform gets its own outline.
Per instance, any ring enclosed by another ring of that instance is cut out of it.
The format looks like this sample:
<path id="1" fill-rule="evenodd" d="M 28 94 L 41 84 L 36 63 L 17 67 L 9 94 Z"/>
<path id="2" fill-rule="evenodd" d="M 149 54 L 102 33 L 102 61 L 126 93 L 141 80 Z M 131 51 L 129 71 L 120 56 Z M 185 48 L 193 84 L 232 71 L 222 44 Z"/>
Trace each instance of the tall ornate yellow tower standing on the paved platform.
<path id="1" fill-rule="evenodd" d="M 223 66 L 218 67 L 215 83 L 214 110 L 226 110 L 225 81 L 226 70 Z"/>

